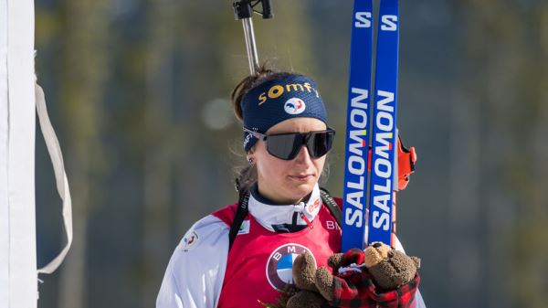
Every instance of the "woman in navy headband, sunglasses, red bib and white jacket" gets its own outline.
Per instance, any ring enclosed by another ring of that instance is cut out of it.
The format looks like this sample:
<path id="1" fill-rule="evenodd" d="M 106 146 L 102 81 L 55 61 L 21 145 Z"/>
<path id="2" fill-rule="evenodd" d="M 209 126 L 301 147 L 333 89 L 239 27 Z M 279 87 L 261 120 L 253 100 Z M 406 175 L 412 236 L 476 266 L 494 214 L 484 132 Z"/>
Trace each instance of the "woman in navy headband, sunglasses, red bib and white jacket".
<path id="1" fill-rule="evenodd" d="M 249 162 L 238 178 L 240 202 L 186 233 L 165 272 L 158 308 L 276 303 L 292 282 L 296 255 L 309 251 L 326 266 L 341 249 L 341 228 L 318 186 L 335 133 L 315 82 L 261 68 L 238 83 L 232 102 Z M 237 214 L 238 204 L 248 212 Z"/>

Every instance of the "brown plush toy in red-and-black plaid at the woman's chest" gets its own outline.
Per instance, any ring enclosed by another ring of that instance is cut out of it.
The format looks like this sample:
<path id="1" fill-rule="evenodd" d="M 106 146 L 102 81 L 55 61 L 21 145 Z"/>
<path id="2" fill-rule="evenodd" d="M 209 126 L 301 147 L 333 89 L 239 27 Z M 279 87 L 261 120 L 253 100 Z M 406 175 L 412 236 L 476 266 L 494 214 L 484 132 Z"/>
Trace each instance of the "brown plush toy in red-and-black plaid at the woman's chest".
<path id="1" fill-rule="evenodd" d="M 334 254 L 328 264 L 332 271 L 316 269 L 311 254 L 301 254 L 293 263 L 297 289 L 267 307 L 401 308 L 410 307 L 415 299 L 420 260 L 383 243 Z"/>

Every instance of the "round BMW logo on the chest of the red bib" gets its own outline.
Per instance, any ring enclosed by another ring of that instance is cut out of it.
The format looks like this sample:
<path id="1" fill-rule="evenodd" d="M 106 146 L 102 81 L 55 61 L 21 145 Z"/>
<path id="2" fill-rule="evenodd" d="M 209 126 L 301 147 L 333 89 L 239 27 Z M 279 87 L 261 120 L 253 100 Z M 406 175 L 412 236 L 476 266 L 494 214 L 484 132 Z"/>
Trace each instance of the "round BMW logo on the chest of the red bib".
<path id="1" fill-rule="evenodd" d="M 290 243 L 280 246 L 272 252 L 267 262 L 267 279 L 272 288 L 282 291 L 286 285 L 294 284 L 293 262 L 305 251 L 311 253 L 311 250 L 300 244 Z"/>

